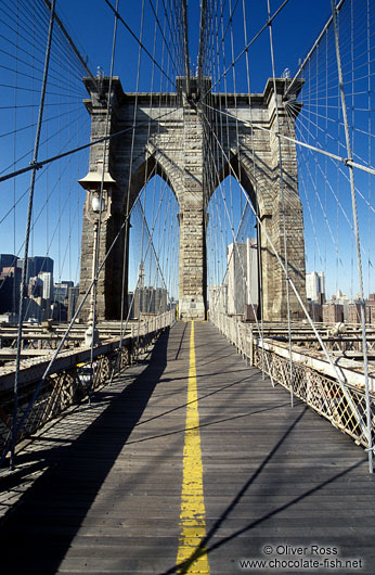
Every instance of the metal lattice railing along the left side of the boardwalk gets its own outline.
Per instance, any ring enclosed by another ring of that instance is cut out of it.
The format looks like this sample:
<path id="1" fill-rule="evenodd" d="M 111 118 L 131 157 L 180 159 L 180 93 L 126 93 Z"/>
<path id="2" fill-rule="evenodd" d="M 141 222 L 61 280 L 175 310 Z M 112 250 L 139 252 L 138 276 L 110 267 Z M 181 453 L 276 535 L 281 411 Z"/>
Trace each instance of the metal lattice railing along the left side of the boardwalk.
<path id="1" fill-rule="evenodd" d="M 90 346 L 62 352 L 36 398 L 35 389 L 50 358 L 44 355 L 24 361 L 20 372 L 17 423 L 22 422 L 27 410 L 28 413 L 17 433 L 16 443 L 29 437 L 68 407 L 81 403 L 92 392 L 109 383 L 132 365 L 160 332 L 174 322 L 174 310 L 167 311 L 132 325 L 131 335 L 100 343 L 93 350 L 93 369 L 90 363 Z M 0 374 L 0 456 L 12 435 L 13 381 L 12 368 Z"/>

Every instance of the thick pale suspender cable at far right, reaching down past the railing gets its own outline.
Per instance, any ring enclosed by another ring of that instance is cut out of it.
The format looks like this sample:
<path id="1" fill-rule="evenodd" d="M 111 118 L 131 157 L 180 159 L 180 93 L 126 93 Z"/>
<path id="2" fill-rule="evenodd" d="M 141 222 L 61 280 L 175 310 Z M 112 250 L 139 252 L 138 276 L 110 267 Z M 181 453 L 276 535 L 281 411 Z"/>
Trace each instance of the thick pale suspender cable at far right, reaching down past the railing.
<path id="1" fill-rule="evenodd" d="M 351 159 L 352 150 L 351 150 L 350 135 L 349 135 L 349 126 L 348 126 L 347 105 L 346 105 L 346 100 L 345 100 L 341 56 L 340 56 L 340 47 L 339 47 L 339 40 L 338 40 L 337 9 L 335 7 L 335 0 L 331 0 L 331 7 L 332 7 L 332 16 L 333 16 L 334 31 L 335 31 L 336 60 L 337 60 L 338 82 L 339 82 L 340 98 L 341 98 L 341 111 L 342 111 L 344 127 L 345 127 L 345 139 L 346 139 L 348 158 Z M 362 277 L 362 260 L 361 260 L 361 242 L 360 242 L 360 232 L 359 232 L 359 223 L 358 223 L 354 171 L 353 171 L 353 167 L 350 165 L 348 165 L 348 169 L 349 169 L 349 175 L 350 175 L 351 205 L 352 205 L 353 220 L 354 220 L 358 276 L 359 276 L 360 296 L 361 296 L 360 305 L 361 305 L 361 324 L 362 324 L 363 368 L 364 368 L 364 383 L 365 383 L 365 398 L 366 398 L 368 470 L 370 470 L 370 473 L 373 473 L 374 472 L 374 468 L 373 468 L 374 448 L 373 448 L 372 425 L 371 425 L 368 360 L 367 360 L 365 305 L 364 305 L 364 294 L 363 294 L 363 277 Z"/>

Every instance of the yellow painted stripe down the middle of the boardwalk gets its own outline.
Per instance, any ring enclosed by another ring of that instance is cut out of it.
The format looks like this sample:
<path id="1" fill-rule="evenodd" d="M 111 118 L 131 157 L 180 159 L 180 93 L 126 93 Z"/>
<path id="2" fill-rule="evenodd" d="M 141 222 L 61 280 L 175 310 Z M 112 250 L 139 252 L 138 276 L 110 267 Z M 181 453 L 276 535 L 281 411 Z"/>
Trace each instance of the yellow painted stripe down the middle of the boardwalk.
<path id="1" fill-rule="evenodd" d="M 202 539 L 206 536 L 206 510 L 203 494 L 203 467 L 197 399 L 194 321 L 192 321 L 185 444 L 183 448 L 180 541 L 177 564 L 184 563 L 178 573 L 203 574 L 209 573 L 209 565 L 206 549 L 199 547 Z"/>

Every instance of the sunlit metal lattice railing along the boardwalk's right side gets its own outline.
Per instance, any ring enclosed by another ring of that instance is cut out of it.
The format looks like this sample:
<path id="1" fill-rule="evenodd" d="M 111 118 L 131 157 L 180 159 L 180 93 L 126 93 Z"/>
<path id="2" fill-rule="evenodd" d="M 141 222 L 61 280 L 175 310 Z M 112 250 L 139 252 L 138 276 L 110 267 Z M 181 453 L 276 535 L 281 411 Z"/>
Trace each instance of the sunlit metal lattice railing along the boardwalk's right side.
<path id="1" fill-rule="evenodd" d="M 271 337 L 261 338 L 251 324 L 216 310 L 210 311 L 209 319 L 237 348 L 237 352 L 247 358 L 250 366 L 259 368 L 270 375 L 273 383 L 279 383 L 290 391 L 290 360 L 286 343 L 274 341 Z M 320 416 L 329 420 L 335 427 L 350 435 L 355 443 L 367 448 L 368 439 L 358 417 L 360 416 L 362 421 L 365 421 L 366 400 L 361 363 L 335 358 L 355 412 L 342 394 L 335 374 L 321 353 L 295 345 L 292 358 L 294 395 Z M 370 380 L 374 389 L 375 373 Z M 372 434 L 375 437 L 374 391 L 371 393 L 370 407 Z"/>

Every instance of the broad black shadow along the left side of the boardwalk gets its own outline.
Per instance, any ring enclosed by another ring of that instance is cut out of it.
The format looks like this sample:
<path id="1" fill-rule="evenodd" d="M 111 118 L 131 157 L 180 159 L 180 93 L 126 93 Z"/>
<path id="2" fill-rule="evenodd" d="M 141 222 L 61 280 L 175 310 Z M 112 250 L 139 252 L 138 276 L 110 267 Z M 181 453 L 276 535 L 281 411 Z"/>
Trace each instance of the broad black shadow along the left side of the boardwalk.
<path id="1" fill-rule="evenodd" d="M 156 342 L 147 367 L 109 399 L 105 410 L 72 445 L 52 444 L 51 448 L 37 452 L 42 461 L 31 463 L 31 469 L 39 464 L 49 464 L 49 469 L 0 524 L 3 573 L 55 573 L 59 570 L 165 371 L 168 340 L 169 329 Z M 100 401 L 101 392 L 95 397 Z M 17 459 L 21 462 L 23 457 L 30 459 L 30 456 L 33 453 L 20 453 Z M 1 483 L 10 488 L 11 482 L 9 475 Z M 66 509 L 72 511 L 68 518 Z"/>

